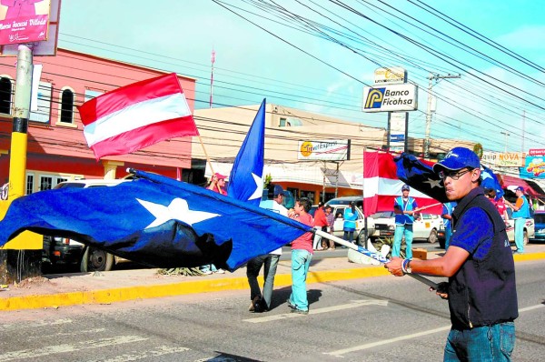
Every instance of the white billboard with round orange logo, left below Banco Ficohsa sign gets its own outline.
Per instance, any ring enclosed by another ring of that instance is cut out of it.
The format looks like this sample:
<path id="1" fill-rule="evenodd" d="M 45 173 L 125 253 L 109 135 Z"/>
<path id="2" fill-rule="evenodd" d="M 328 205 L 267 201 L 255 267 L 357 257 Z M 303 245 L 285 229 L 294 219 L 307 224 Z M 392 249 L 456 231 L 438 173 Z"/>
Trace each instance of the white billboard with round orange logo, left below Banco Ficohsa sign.
<path id="1" fill-rule="evenodd" d="M 350 159 L 350 140 L 299 141 L 298 160 L 344 161 Z"/>

